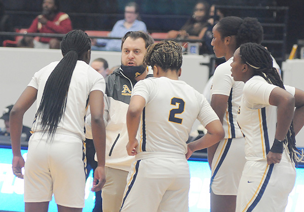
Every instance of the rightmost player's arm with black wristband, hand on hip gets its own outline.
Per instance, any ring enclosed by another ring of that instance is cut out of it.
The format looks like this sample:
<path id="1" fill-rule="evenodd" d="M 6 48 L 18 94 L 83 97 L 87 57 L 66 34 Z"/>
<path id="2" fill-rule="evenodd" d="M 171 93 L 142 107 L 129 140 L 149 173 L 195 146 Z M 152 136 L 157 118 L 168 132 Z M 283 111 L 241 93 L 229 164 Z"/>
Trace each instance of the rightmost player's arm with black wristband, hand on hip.
<path id="1" fill-rule="evenodd" d="M 268 164 L 279 163 L 282 159 L 283 141 L 289 130 L 294 112 L 295 98 L 282 88 L 275 88 L 272 90 L 269 103 L 277 106 L 277 128 L 275 139 L 270 152 L 267 154 Z"/>

